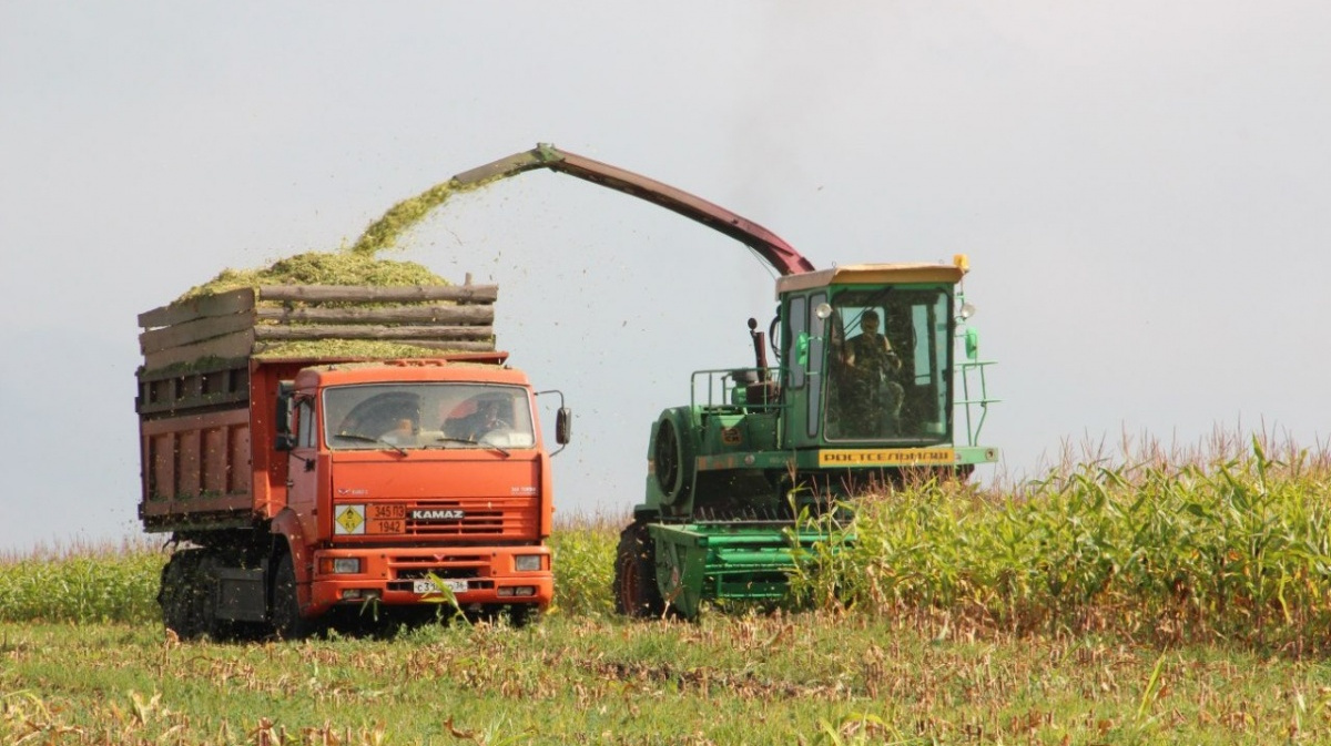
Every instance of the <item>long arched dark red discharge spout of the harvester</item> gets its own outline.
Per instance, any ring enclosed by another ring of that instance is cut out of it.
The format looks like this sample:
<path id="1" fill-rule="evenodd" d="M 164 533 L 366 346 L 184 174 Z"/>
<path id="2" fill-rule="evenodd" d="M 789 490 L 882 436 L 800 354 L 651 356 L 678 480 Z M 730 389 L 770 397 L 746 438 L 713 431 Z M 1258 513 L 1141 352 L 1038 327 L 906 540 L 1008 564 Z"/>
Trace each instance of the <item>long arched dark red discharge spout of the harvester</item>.
<path id="1" fill-rule="evenodd" d="M 646 199 L 667 210 L 679 213 L 753 249 L 783 275 L 815 271 L 813 265 L 796 251 L 793 246 L 743 215 L 737 215 L 720 205 L 708 202 L 683 189 L 584 156 L 560 150 L 544 142 L 531 150 L 514 153 L 507 158 L 499 158 L 483 166 L 462 172 L 453 177 L 453 182 L 457 186 L 474 186 L 535 169 L 550 169 L 575 176 L 580 180 L 631 194 L 639 199 Z"/>

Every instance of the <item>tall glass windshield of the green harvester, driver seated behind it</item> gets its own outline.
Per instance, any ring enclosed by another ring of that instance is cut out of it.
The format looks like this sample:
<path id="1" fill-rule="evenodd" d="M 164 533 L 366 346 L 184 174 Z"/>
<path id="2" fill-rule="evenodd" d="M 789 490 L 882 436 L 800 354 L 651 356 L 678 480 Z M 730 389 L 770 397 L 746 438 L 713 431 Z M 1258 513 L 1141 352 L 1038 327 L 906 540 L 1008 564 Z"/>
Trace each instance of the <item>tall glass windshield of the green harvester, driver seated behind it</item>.
<path id="1" fill-rule="evenodd" d="M 946 289 L 848 289 L 828 319 L 828 440 L 950 437 L 952 297 Z"/>

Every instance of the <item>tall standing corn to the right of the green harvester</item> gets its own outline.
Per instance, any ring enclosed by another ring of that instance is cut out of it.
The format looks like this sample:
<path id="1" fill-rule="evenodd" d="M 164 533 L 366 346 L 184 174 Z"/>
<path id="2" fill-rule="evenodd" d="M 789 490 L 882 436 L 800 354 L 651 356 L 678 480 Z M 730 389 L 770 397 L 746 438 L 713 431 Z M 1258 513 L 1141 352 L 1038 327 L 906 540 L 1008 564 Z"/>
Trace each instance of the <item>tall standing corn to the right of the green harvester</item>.
<path id="1" fill-rule="evenodd" d="M 868 496 L 801 556 L 793 590 L 877 616 L 1300 653 L 1331 640 L 1328 524 L 1326 459 L 1275 460 L 1254 439 L 1210 464 L 1083 463 L 1005 495 Z"/>

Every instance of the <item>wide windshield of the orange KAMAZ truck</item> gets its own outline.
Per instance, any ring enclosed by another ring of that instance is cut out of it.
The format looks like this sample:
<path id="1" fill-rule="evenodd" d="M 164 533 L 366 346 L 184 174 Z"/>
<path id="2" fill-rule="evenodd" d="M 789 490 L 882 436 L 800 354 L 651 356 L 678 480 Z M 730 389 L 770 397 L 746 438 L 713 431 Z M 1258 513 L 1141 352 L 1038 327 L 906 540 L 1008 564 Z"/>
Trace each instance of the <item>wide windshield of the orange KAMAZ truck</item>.
<path id="1" fill-rule="evenodd" d="M 323 437 L 334 451 L 536 444 L 531 399 L 516 386 L 337 386 L 323 391 Z"/>

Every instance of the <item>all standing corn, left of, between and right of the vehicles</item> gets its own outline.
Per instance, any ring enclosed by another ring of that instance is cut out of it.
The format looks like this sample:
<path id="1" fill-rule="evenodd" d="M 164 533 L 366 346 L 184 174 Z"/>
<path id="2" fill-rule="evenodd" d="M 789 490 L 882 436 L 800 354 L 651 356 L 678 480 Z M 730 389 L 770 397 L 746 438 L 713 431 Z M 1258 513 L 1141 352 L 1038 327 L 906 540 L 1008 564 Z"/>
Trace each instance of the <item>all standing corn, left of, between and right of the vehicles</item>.
<path id="1" fill-rule="evenodd" d="M 793 608 L 940 616 L 1302 654 L 1331 646 L 1331 460 L 1259 439 L 1210 461 L 1085 459 L 1009 489 L 925 481 L 860 497 L 799 556 Z M 552 614 L 610 616 L 627 519 L 563 521 Z M 0 557 L 0 621 L 160 621 L 156 544 Z"/>

